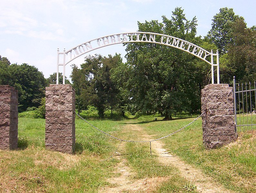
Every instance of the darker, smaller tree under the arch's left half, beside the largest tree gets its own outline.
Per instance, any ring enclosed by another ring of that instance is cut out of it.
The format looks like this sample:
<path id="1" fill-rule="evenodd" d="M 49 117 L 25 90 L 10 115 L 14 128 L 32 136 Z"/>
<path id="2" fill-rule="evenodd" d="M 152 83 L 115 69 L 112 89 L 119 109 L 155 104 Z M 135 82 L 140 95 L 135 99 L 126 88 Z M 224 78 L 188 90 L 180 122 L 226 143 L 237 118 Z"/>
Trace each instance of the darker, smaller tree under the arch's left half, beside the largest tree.
<path id="1" fill-rule="evenodd" d="M 89 104 L 94 105 L 100 118 L 104 117 L 104 111 L 110 108 L 111 111 L 119 103 L 117 97 L 118 89 L 111 81 L 111 69 L 118 63 L 122 63 L 120 54 L 115 56 L 101 55 L 88 56 L 81 69 L 73 65 L 72 82 L 76 90 L 78 109 L 87 108 Z"/>

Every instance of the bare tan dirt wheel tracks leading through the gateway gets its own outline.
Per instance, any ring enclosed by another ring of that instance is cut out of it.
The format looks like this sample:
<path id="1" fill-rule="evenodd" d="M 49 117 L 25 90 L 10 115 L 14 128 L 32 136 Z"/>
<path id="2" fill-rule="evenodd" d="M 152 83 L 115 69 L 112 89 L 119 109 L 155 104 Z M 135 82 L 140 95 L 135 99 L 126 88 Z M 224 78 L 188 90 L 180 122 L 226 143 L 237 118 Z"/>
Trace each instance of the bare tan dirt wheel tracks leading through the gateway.
<path id="1" fill-rule="evenodd" d="M 127 124 L 126 130 L 137 130 L 140 132 L 140 140 L 152 140 L 153 137 L 146 134 L 140 125 Z M 187 180 L 192 180 L 197 187 L 198 192 L 202 193 L 222 193 L 231 192 L 217 184 L 212 178 L 207 177 L 201 170 L 196 169 L 188 164 L 185 164 L 179 157 L 167 152 L 163 147 L 163 143 L 159 140 L 151 143 L 152 151 L 159 157 L 160 163 L 166 166 L 174 166 L 180 171 L 180 175 Z M 120 150 L 122 152 L 122 150 Z M 107 179 L 109 186 L 100 189 L 99 192 L 152 192 L 157 185 L 167 181 L 169 177 L 156 177 L 134 180 L 135 174 L 126 165 L 126 160 L 120 154 L 115 156 L 121 162 L 115 168 L 116 176 Z"/>

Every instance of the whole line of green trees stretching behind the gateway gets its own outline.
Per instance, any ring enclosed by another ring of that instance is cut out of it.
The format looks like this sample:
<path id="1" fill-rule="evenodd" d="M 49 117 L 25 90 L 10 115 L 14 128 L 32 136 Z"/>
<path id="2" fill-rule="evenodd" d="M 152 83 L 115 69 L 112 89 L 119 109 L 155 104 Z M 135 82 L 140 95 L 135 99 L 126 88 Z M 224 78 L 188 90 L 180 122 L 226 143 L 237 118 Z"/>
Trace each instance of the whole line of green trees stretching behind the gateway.
<path id="1" fill-rule="evenodd" d="M 196 35 L 196 17 L 188 20 L 181 8 L 171 18 L 138 22 L 138 31 L 171 35 L 220 54 L 220 81 L 231 83 L 256 79 L 256 27 L 248 28 L 233 9 L 221 8 L 212 19 L 205 37 Z M 199 113 L 201 89 L 211 83 L 211 66 L 181 50 L 154 43 L 127 43 L 126 59 L 120 54 L 85 57 L 80 67 L 73 65 L 72 86 L 76 109 L 97 108 L 99 117 L 106 110 L 160 113 L 171 119 L 176 113 Z M 10 65 L 0 58 L 0 84 L 19 90 L 20 111 L 40 105 L 44 87 L 56 83 L 56 73 L 44 79 L 42 72 L 27 64 Z M 3 70 L 2 70 L 3 69 Z M 60 74 L 61 76 L 61 74 Z M 59 79 L 61 83 L 62 78 Z M 216 78 L 215 78 L 216 80 Z M 33 93 L 33 94 L 32 94 Z"/>

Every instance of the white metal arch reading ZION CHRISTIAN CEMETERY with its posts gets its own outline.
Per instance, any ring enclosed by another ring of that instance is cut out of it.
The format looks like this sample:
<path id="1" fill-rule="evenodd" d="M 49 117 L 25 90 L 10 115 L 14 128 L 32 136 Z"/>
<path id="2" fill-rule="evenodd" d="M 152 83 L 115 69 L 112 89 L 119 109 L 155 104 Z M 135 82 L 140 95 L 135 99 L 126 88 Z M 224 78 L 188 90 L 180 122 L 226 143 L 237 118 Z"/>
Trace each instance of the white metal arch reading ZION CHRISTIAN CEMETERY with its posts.
<path id="1" fill-rule="evenodd" d="M 144 43 L 157 43 L 166 46 L 171 46 L 180 49 L 184 52 L 190 53 L 206 63 L 212 66 L 212 84 L 214 84 L 214 66 L 217 67 L 217 84 L 220 83 L 220 72 L 219 72 L 219 52 L 216 53 L 206 51 L 205 49 L 190 43 L 188 41 L 182 40 L 177 37 L 170 35 L 157 34 L 151 32 L 130 32 L 122 34 L 111 34 L 90 40 L 88 42 L 82 43 L 75 46 L 74 48 L 60 52 L 59 48 L 57 50 L 57 80 L 56 84 L 59 82 L 59 66 L 63 66 L 63 84 L 65 84 L 65 65 L 70 63 L 75 58 L 88 53 L 90 51 L 114 45 L 118 43 L 134 43 L 134 42 L 144 42 Z M 60 63 L 60 56 L 63 58 L 63 63 Z M 216 64 L 213 63 L 213 57 L 216 56 Z M 211 62 L 207 59 L 211 57 Z"/>

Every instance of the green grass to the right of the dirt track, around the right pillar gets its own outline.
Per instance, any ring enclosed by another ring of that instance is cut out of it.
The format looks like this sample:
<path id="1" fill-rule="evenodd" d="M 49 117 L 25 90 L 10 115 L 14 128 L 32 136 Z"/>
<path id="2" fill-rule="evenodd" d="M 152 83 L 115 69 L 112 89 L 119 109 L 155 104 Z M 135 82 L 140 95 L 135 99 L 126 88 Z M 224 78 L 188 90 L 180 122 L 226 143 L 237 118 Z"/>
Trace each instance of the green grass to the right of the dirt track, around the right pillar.
<path id="1" fill-rule="evenodd" d="M 144 124 L 148 133 L 160 137 L 172 133 L 193 119 L 157 121 Z M 255 131 L 254 131 L 255 132 Z M 239 133 L 241 144 L 207 150 L 202 144 L 202 121 L 164 139 L 166 148 L 188 164 L 202 169 L 225 188 L 236 192 L 256 192 L 256 139 Z"/>

